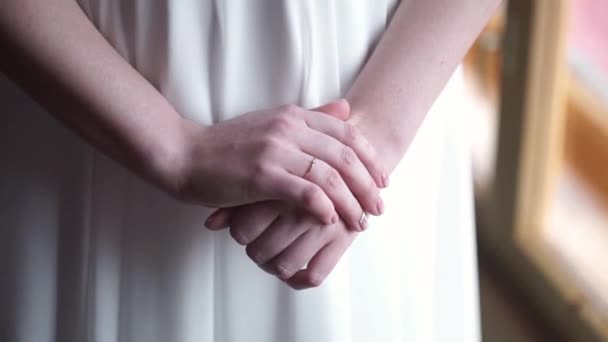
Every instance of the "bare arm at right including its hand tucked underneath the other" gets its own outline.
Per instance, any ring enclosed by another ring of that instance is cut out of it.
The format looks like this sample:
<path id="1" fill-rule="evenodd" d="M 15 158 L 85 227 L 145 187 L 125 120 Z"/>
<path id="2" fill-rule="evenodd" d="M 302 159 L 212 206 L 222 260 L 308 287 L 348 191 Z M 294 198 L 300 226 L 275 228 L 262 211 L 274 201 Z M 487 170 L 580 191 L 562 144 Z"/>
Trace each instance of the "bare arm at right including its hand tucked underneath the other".
<path id="1" fill-rule="evenodd" d="M 499 0 L 403 1 L 346 95 L 351 108 L 323 111 L 344 117 L 350 109 L 347 121 L 381 152 L 382 164 L 392 170 L 499 4 Z M 343 221 L 323 225 L 277 202 L 220 210 L 207 225 L 211 229 L 230 225 L 232 235 L 247 245 L 256 264 L 296 289 L 320 285 L 358 234 L 346 229 Z"/>

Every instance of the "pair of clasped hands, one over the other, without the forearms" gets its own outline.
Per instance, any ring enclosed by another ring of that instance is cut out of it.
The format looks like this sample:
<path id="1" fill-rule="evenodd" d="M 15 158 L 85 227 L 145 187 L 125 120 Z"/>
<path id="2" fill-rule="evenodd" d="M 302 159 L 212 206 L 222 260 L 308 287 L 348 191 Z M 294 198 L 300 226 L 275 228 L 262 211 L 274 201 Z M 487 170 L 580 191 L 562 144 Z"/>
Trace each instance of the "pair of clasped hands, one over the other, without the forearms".
<path id="1" fill-rule="evenodd" d="M 263 270 L 296 289 L 318 286 L 365 230 L 367 213 L 383 212 L 387 172 L 349 115 L 338 100 L 192 126 L 178 195 L 223 208 L 206 226 L 230 227 Z"/>

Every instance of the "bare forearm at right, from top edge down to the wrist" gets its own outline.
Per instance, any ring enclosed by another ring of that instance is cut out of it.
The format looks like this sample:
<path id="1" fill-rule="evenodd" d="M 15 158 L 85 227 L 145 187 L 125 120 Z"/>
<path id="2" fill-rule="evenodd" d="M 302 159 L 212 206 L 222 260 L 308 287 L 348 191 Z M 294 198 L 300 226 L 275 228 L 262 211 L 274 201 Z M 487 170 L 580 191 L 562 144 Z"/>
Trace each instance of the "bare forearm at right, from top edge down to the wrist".
<path id="1" fill-rule="evenodd" d="M 346 98 L 350 121 L 389 169 L 403 157 L 431 105 L 499 0 L 402 1 Z"/>

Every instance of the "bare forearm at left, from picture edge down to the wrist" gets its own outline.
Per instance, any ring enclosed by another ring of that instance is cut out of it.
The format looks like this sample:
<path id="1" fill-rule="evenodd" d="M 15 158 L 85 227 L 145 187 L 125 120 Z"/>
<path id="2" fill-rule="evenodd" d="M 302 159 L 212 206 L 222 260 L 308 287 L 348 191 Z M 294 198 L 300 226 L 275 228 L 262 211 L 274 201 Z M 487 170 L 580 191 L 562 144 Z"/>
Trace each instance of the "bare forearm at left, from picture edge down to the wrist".
<path id="1" fill-rule="evenodd" d="M 54 117 L 149 181 L 171 187 L 181 117 L 75 1 L 2 0 L 0 48 L 0 70 Z"/>

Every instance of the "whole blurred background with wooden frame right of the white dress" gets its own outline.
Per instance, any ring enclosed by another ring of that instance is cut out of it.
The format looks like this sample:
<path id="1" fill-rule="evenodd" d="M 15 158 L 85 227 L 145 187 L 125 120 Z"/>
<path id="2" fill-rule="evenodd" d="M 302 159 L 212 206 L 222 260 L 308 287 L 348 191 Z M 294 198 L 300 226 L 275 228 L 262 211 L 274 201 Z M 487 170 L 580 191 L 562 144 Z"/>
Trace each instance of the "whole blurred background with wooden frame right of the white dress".
<path id="1" fill-rule="evenodd" d="M 464 69 L 484 341 L 608 341 L 608 1 L 506 1 Z"/>

